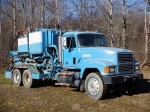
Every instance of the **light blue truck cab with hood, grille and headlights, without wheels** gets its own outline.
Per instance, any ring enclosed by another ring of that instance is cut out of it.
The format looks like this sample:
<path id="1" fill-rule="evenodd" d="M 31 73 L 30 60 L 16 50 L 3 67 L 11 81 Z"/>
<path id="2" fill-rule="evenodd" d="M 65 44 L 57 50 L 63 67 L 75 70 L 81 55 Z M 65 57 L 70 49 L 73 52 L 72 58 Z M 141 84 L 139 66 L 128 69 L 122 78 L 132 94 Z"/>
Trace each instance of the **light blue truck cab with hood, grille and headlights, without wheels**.
<path id="1" fill-rule="evenodd" d="M 132 51 L 108 47 L 101 33 L 69 32 L 63 36 L 66 38 L 63 41 L 64 68 L 80 69 L 80 78 L 86 68 L 97 69 L 103 76 L 140 72 Z"/>

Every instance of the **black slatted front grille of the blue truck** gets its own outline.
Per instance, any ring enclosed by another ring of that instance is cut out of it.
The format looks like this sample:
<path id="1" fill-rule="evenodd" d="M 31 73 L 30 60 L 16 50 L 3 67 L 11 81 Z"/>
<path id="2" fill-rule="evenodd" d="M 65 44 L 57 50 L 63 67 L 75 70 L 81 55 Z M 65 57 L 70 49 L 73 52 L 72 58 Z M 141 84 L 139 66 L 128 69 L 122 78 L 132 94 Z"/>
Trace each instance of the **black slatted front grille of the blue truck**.
<path id="1" fill-rule="evenodd" d="M 133 56 L 132 54 L 118 54 L 119 72 L 132 72 L 133 68 Z"/>

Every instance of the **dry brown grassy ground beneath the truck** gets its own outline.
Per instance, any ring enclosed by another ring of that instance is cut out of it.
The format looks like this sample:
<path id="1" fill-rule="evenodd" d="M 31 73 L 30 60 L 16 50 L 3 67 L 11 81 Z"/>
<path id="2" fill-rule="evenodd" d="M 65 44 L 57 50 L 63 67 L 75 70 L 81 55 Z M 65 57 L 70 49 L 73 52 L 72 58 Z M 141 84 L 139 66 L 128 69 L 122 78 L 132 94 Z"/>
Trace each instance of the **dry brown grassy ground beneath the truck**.
<path id="1" fill-rule="evenodd" d="M 95 101 L 71 87 L 15 87 L 0 75 L 0 112 L 150 112 L 150 67 L 142 68 L 144 79 L 135 95 L 109 93 Z"/>

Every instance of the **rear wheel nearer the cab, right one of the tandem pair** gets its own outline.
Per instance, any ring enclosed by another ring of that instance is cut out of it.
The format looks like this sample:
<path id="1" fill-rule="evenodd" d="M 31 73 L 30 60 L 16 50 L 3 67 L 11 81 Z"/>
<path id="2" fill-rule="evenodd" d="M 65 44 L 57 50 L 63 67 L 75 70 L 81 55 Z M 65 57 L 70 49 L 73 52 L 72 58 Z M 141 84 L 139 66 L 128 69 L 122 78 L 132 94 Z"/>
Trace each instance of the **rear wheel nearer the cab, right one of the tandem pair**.
<path id="1" fill-rule="evenodd" d="M 25 70 L 23 72 L 22 81 L 25 88 L 34 87 L 34 79 L 32 79 L 32 75 L 29 70 Z"/>

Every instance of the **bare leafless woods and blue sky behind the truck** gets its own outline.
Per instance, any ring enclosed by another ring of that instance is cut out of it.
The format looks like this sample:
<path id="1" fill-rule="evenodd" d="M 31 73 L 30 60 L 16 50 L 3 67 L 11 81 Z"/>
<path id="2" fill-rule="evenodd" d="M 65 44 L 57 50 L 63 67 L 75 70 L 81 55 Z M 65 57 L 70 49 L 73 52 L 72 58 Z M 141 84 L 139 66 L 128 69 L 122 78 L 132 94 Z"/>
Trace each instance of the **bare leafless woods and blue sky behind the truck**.
<path id="1" fill-rule="evenodd" d="M 22 28 L 56 28 L 105 34 L 108 46 L 134 52 L 150 62 L 149 5 L 145 0 L 0 0 L 0 68 L 9 65 L 9 49 Z"/>

